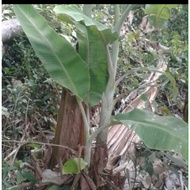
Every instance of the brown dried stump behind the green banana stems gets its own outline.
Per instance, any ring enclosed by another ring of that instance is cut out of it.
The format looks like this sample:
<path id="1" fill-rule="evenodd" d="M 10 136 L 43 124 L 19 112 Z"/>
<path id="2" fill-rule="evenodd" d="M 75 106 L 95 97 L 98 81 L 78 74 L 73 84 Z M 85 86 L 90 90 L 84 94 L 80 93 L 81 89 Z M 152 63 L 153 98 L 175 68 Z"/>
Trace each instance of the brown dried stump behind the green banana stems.
<path id="1" fill-rule="evenodd" d="M 50 167 L 69 159 L 77 151 L 78 146 L 85 144 L 83 119 L 75 96 L 63 88 L 57 118 L 54 144 L 64 147 L 53 147 Z"/>

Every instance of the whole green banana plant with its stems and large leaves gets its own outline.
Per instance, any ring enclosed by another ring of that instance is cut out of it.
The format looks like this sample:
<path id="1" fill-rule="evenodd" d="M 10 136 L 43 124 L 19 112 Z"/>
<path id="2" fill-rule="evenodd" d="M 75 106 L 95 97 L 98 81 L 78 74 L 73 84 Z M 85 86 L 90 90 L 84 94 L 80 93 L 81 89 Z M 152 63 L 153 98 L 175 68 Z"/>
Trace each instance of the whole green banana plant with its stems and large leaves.
<path id="1" fill-rule="evenodd" d="M 113 118 L 111 116 L 116 88 L 119 33 L 126 16 L 135 6 L 127 5 L 120 14 L 119 5 L 114 5 L 113 28 L 86 16 L 75 5 L 56 6 L 54 11 L 60 22 L 76 27 L 78 52 L 66 38 L 61 37 L 48 25 L 45 18 L 38 14 L 32 5 L 13 6 L 17 19 L 49 75 L 55 82 L 69 89 L 72 96 L 77 99 L 84 121 L 86 138 L 84 160 L 88 166 L 91 160 L 92 141 L 96 137 L 97 143 L 103 144 L 105 148 L 108 127 L 116 123 L 131 127 L 148 147 L 178 152 L 187 161 L 188 130 L 183 120 L 161 117 L 138 109 L 118 114 Z M 89 110 L 100 101 L 99 128 L 90 134 Z M 83 103 L 87 110 L 84 110 Z"/>

